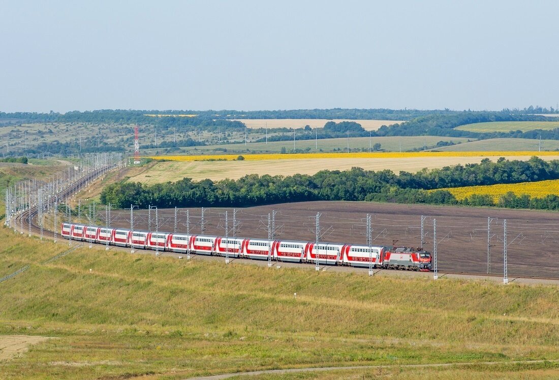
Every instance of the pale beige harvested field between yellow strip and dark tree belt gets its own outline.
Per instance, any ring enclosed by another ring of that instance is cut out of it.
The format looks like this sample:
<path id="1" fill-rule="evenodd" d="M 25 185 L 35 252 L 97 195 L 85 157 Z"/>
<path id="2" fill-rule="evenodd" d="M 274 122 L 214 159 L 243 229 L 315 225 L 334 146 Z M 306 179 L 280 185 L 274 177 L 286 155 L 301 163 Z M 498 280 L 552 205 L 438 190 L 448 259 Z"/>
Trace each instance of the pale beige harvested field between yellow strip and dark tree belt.
<path id="1" fill-rule="evenodd" d="M 238 179 L 247 174 L 315 174 L 320 170 L 347 170 L 359 167 L 366 170 L 390 169 L 395 173 L 404 170 L 417 172 L 423 168 L 442 168 L 448 165 L 480 163 L 489 158 L 495 161 L 499 156 L 449 156 L 449 157 L 410 157 L 410 158 L 315 158 L 315 159 L 276 159 L 244 161 L 192 161 L 161 162 L 130 178 L 130 181 L 143 183 L 175 182 L 185 177 L 195 180 L 209 178 L 213 181 L 230 178 Z M 505 156 L 506 159 L 528 160 L 530 156 Z M 542 156 L 544 160 L 557 156 Z"/>

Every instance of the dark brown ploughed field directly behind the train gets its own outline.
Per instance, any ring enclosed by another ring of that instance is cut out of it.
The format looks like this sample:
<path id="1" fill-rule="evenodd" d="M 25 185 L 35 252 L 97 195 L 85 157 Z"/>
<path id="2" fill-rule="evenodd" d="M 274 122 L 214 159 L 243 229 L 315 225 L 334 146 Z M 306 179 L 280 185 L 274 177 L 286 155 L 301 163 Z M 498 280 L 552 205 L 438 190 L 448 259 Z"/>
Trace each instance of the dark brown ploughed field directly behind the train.
<path id="1" fill-rule="evenodd" d="M 205 211 L 206 234 L 225 235 L 233 210 Z M 503 274 L 503 221 L 507 221 L 509 277 L 559 278 L 559 219 L 556 212 L 499 208 L 400 205 L 373 202 L 301 202 L 239 208 L 236 235 L 267 239 L 268 213 L 277 211 L 276 239 L 314 241 L 315 216 L 321 212 L 321 241 L 366 243 L 366 215 L 372 215 L 373 241 L 377 245 L 421 244 L 420 220 L 425 216 L 424 246 L 433 250 L 433 220 L 437 221 L 438 268 L 441 272 L 487 273 L 487 217 L 491 222 L 491 273 Z M 134 212 L 135 229 L 147 229 L 147 211 Z M 129 212 L 113 211 L 112 226 L 129 228 Z M 199 208 L 190 209 L 190 231 L 200 234 Z M 159 230 L 173 231 L 174 210 L 159 210 Z M 152 211 L 152 220 L 154 211 Z M 152 221 L 152 230 L 155 222 Z M 186 232 L 186 209 L 179 209 L 177 231 Z M 230 231 L 233 236 L 233 231 Z"/>

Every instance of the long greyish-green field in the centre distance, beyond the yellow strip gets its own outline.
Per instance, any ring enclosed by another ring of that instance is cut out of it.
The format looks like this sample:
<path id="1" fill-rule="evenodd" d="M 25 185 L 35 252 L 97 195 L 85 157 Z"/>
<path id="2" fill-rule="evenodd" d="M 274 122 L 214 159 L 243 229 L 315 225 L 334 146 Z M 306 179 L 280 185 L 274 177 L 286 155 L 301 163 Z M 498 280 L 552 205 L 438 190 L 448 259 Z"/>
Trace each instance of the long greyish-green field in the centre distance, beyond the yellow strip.
<path id="1" fill-rule="evenodd" d="M 366 150 L 368 151 L 372 145 L 381 144 L 381 150 L 385 151 L 408 151 L 413 149 L 423 149 L 424 144 L 427 144 L 428 149 L 437 145 L 439 141 L 452 141 L 454 144 L 464 143 L 468 140 L 465 137 L 443 137 L 443 136 L 391 136 L 391 137 L 350 137 L 349 138 L 349 148 Z M 317 148 L 318 146 L 318 148 Z M 348 139 L 323 139 L 323 140 L 296 140 L 295 149 L 308 150 L 309 153 L 314 153 L 316 151 L 332 152 L 335 150 L 345 151 L 347 150 Z M 281 149 L 285 148 L 287 151 L 293 149 L 293 140 L 291 141 L 274 141 L 266 143 L 248 143 L 245 144 L 221 144 L 221 145 L 207 145 L 207 146 L 196 146 L 196 147 L 185 147 L 182 148 L 183 151 L 187 153 L 215 153 L 223 152 L 224 149 L 228 153 L 247 153 L 250 151 L 252 153 L 280 153 Z M 149 155 L 150 153 L 155 153 L 155 149 L 144 149 L 142 151 L 143 155 Z M 159 149 L 161 152 L 162 149 Z"/>

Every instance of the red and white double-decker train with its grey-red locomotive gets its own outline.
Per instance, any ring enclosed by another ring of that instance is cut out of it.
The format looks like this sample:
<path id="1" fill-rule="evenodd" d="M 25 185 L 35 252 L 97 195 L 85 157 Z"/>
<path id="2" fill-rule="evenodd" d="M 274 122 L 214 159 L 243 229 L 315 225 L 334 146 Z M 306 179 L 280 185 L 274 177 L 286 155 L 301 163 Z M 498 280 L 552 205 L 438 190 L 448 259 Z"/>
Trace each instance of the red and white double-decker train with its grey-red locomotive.
<path id="1" fill-rule="evenodd" d="M 385 269 L 431 270 L 431 255 L 423 249 L 343 243 L 318 243 L 297 240 L 225 238 L 224 236 L 173 234 L 169 232 L 130 231 L 107 227 L 63 223 L 66 239 L 91 241 L 138 249 L 176 253 L 216 255 L 296 263 L 350 265 Z"/>

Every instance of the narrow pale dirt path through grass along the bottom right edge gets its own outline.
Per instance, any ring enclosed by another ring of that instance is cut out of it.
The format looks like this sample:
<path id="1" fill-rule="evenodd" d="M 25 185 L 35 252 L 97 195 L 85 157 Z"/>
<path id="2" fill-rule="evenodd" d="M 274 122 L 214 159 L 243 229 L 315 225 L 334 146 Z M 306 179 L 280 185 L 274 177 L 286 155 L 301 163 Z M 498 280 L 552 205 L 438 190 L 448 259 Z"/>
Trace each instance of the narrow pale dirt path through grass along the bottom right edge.
<path id="1" fill-rule="evenodd" d="M 192 377 L 191 380 L 221 380 L 234 376 L 255 376 L 260 374 L 285 374 L 298 372 L 324 372 L 324 371 L 343 371 L 352 369 L 379 369 L 379 368 L 436 368 L 454 367 L 461 365 L 502 365 L 502 364 L 534 364 L 544 362 L 558 362 L 559 360 L 517 360 L 514 362 L 466 362 L 466 363 L 438 363 L 438 364 L 405 364 L 405 365 L 354 365 L 350 367 L 320 367 L 320 368 L 291 368 L 291 369 L 269 369 L 268 371 L 252 371 L 244 373 L 226 373 L 214 376 Z"/>

